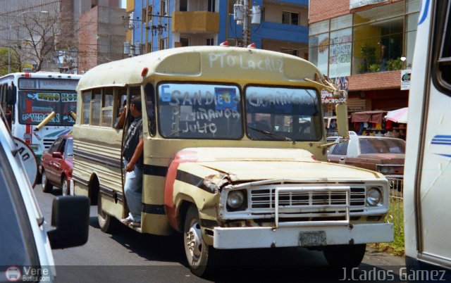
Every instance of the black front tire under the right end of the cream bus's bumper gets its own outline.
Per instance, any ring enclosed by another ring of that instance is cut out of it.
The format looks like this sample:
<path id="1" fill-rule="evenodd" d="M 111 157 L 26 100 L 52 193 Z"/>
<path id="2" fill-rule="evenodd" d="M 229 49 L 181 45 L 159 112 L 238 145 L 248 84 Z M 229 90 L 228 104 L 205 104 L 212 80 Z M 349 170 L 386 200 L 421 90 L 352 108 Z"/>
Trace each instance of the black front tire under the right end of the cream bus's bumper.
<path id="1" fill-rule="evenodd" d="M 323 249 L 329 265 L 338 268 L 355 268 L 364 259 L 366 244 L 332 245 Z"/>

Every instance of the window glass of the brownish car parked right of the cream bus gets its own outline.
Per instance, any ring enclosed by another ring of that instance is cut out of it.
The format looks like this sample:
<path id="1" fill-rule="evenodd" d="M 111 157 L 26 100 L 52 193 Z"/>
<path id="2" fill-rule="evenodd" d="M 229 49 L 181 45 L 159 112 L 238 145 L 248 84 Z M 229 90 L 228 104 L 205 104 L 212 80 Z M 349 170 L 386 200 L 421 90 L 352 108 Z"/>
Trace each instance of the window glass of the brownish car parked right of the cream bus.
<path id="1" fill-rule="evenodd" d="M 405 153 L 402 139 L 359 139 L 360 153 Z"/>

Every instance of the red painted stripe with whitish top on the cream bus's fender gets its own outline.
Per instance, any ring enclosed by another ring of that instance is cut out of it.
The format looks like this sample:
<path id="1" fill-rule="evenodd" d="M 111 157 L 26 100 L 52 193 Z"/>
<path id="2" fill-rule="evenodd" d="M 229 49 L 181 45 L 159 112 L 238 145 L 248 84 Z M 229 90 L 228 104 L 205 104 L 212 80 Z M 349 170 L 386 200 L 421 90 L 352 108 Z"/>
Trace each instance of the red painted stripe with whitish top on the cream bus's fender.
<path id="1" fill-rule="evenodd" d="M 198 159 L 197 151 L 183 149 L 175 154 L 174 160 L 169 165 L 164 184 L 164 206 L 166 207 L 166 216 L 168 217 L 169 225 L 174 229 L 178 229 L 178 210 L 173 201 L 174 182 L 175 177 L 177 177 L 178 165 L 181 163 L 196 162 Z"/>

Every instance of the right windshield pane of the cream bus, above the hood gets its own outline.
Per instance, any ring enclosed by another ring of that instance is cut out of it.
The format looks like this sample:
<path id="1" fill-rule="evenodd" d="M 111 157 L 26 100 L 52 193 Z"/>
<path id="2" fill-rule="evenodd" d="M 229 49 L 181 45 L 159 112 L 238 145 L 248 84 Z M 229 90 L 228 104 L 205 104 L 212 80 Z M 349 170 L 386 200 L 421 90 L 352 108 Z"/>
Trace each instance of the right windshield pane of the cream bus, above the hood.
<path id="1" fill-rule="evenodd" d="M 314 89 L 247 87 L 246 123 L 250 139 L 318 141 L 320 100 Z"/>

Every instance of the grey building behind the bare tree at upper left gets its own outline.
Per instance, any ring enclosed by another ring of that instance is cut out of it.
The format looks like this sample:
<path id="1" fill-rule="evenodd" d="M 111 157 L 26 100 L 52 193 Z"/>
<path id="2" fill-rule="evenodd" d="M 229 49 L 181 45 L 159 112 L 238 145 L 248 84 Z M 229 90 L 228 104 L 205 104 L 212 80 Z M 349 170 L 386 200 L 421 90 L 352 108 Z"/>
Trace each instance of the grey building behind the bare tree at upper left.
<path id="1" fill-rule="evenodd" d="M 41 41 L 44 42 L 42 45 L 50 42 L 54 44 L 51 48 L 54 51 L 39 54 L 46 56 L 41 70 L 76 73 L 80 30 L 78 18 L 95 6 L 118 8 L 121 0 L 0 0 L 0 46 L 11 47 L 16 53 L 21 51 L 20 61 L 23 67 L 23 63 L 35 64 L 36 60 L 30 54 L 39 53 L 30 49 L 30 42 L 39 42 L 39 38 L 44 37 L 55 38 L 56 41 L 53 42 Z M 40 26 L 42 31 L 38 27 L 30 35 L 32 28 L 27 30 L 25 25 L 32 27 L 35 23 L 43 23 Z M 53 27 L 49 28 L 46 23 Z M 47 30 L 50 32 L 47 33 Z M 46 46 L 37 46 L 39 50 L 45 48 Z M 14 52 L 10 49 L 10 53 Z"/>

